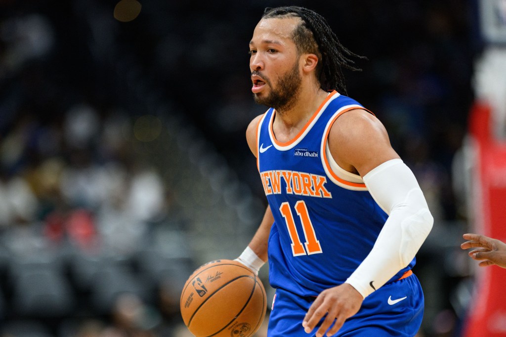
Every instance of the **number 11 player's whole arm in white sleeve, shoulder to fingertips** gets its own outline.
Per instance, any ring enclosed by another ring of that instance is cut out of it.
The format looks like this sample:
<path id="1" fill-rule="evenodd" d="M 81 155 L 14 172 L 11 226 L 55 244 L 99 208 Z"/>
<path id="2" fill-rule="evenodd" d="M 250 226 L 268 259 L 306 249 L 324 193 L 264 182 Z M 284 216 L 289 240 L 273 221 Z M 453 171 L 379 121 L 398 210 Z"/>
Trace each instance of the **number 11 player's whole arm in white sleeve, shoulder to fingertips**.
<path id="1" fill-rule="evenodd" d="M 309 309 L 303 322 L 306 332 L 327 314 L 317 336 L 322 336 L 334 319 L 328 334 L 337 332 L 374 288 L 407 266 L 433 223 L 414 175 L 392 149 L 383 124 L 374 116 L 358 109 L 345 113 L 332 126 L 328 141 L 334 160 L 363 177 L 389 218 L 371 252 L 348 280 L 322 291 Z"/>

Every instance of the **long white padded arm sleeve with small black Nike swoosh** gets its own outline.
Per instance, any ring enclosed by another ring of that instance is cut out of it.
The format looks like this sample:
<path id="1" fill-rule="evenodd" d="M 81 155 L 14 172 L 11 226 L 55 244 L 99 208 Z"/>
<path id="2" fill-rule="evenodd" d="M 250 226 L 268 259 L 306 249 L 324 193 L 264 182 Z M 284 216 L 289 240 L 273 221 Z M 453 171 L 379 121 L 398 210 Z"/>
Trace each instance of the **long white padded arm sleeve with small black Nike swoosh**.
<path id="1" fill-rule="evenodd" d="M 363 180 L 389 215 L 369 255 L 346 280 L 365 298 L 411 262 L 434 219 L 416 178 L 401 159 L 384 162 Z"/>

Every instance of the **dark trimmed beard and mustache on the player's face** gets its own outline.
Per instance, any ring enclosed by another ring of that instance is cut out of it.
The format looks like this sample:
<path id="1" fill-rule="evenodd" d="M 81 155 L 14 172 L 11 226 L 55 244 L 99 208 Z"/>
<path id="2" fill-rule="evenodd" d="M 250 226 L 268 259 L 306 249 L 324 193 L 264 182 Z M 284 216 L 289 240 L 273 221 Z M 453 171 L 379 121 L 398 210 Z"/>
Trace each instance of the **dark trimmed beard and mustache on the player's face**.
<path id="1" fill-rule="evenodd" d="M 290 109 L 295 102 L 297 102 L 302 86 L 302 78 L 299 73 L 298 62 L 295 63 L 290 71 L 279 77 L 276 87 L 271 85 L 272 82 L 269 78 L 264 76 L 262 76 L 262 78 L 264 78 L 266 84 L 271 86 L 271 93 L 266 97 L 253 94 L 255 103 L 272 107 L 276 109 L 277 112 L 282 113 L 283 111 Z"/>

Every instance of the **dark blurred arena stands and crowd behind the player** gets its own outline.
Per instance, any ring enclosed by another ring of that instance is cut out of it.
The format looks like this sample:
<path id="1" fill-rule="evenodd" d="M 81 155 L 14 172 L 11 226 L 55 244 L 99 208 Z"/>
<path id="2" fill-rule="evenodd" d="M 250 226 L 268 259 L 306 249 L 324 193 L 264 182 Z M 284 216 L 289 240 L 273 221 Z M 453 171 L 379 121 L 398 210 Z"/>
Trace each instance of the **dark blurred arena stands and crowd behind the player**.
<path id="1" fill-rule="evenodd" d="M 473 268 L 454 167 L 478 3 L 139 1 L 0 0 L 1 336 L 187 335 L 184 281 L 237 257 L 264 213 L 247 44 L 281 5 L 323 14 L 368 58 L 345 72 L 348 94 L 384 122 L 435 218 L 414 269 L 419 335 L 460 335 Z"/>

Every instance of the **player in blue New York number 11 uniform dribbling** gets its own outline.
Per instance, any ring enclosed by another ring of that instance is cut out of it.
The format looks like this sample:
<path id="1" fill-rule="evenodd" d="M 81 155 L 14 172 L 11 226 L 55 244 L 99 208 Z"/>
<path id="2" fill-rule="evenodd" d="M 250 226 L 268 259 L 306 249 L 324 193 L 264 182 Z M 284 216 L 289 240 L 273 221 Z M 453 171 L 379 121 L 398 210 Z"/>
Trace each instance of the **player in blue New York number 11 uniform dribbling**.
<path id="1" fill-rule="evenodd" d="M 433 218 L 381 122 L 344 96 L 356 55 L 320 15 L 266 9 L 249 43 L 247 143 L 269 206 L 237 261 L 269 260 L 269 336 L 413 336 L 424 296 L 411 268 Z M 337 90 L 337 91 L 336 91 Z"/>

